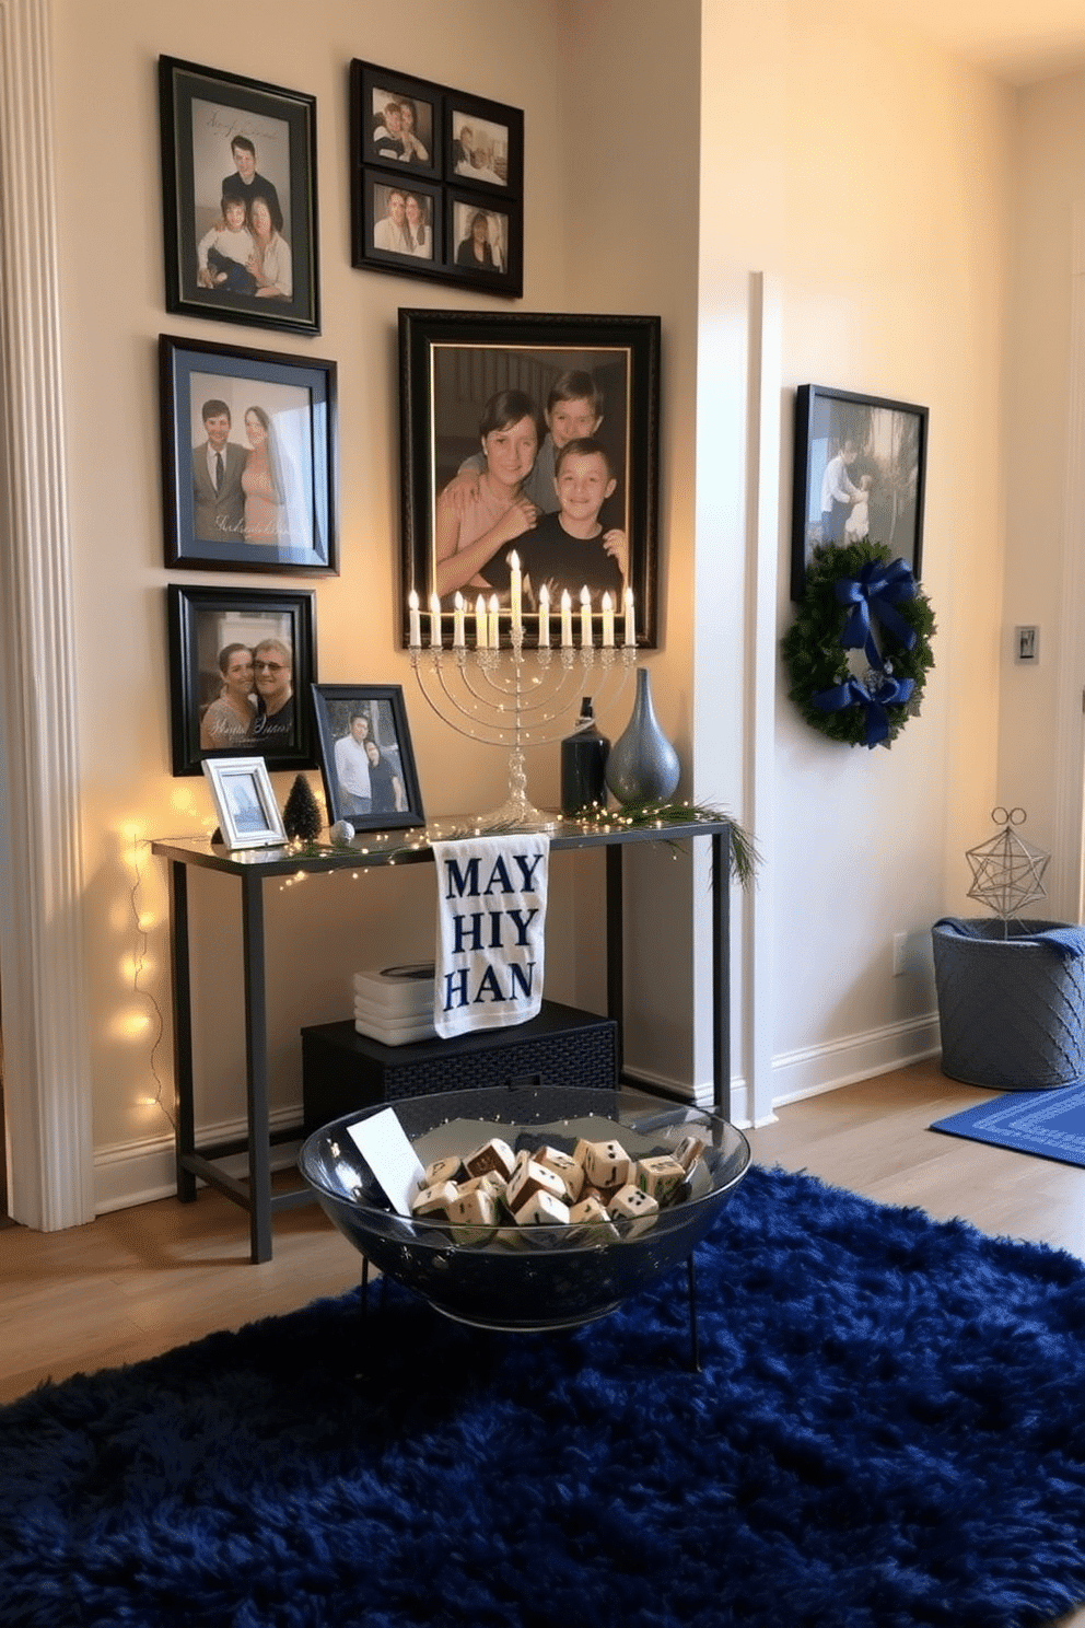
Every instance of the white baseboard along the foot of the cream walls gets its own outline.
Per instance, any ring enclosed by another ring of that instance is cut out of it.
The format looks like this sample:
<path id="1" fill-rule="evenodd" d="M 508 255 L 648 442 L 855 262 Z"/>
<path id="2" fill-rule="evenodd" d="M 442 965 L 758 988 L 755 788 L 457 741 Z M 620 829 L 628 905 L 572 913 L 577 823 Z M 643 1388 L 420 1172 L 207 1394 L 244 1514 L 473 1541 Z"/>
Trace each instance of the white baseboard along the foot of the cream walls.
<path id="1" fill-rule="evenodd" d="M 787 1102 L 800 1102 L 804 1097 L 817 1097 L 825 1091 L 838 1091 L 857 1079 L 888 1074 L 893 1068 L 904 1068 L 926 1057 L 937 1057 L 939 1050 L 939 1017 L 937 1013 L 930 1013 L 908 1022 L 870 1029 L 867 1034 L 846 1035 L 843 1040 L 828 1040 L 823 1045 L 784 1052 L 773 1058 L 773 1107 L 779 1109 Z M 688 1102 L 698 1109 L 712 1107 L 711 1081 L 701 1081 L 690 1089 L 685 1081 L 639 1070 L 636 1081 L 647 1091 L 659 1091 L 677 1102 Z M 734 1076 L 730 1081 L 730 1122 L 742 1130 L 748 1128 L 752 1123 L 748 1109 L 747 1081 L 742 1076 Z M 299 1107 L 278 1109 L 272 1114 L 272 1130 L 296 1125 L 299 1118 Z M 200 1140 L 207 1143 L 229 1141 L 244 1135 L 244 1120 L 234 1120 L 228 1125 L 205 1127 Z M 298 1159 L 298 1143 L 273 1146 L 272 1169 L 293 1167 Z M 223 1169 L 229 1175 L 244 1175 L 244 1154 L 223 1159 Z M 146 1205 L 155 1198 L 171 1198 L 176 1192 L 172 1136 L 99 1148 L 94 1154 L 94 1214 L 104 1214 L 107 1210 L 125 1210 L 130 1205 Z"/>

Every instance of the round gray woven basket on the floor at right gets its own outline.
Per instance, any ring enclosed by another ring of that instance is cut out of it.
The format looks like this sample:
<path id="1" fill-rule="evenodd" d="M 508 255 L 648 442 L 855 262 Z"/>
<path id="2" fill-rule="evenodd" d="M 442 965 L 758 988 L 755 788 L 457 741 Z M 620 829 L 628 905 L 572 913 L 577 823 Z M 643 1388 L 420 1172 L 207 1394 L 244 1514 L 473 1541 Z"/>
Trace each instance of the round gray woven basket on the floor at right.
<path id="1" fill-rule="evenodd" d="M 1064 925 L 971 920 L 978 938 L 932 928 L 943 1074 L 1000 1091 L 1085 1076 L 1085 957 L 1020 943 Z"/>

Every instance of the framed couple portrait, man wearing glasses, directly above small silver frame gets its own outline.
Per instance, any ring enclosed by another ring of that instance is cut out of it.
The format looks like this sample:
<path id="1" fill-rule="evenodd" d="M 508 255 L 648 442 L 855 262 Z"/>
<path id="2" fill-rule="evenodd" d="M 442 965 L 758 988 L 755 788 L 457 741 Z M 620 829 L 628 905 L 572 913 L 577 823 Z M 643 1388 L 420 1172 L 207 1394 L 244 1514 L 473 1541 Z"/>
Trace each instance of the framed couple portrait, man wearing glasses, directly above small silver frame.
<path id="1" fill-rule="evenodd" d="M 174 775 L 207 755 L 311 768 L 314 594 L 168 589 Z"/>

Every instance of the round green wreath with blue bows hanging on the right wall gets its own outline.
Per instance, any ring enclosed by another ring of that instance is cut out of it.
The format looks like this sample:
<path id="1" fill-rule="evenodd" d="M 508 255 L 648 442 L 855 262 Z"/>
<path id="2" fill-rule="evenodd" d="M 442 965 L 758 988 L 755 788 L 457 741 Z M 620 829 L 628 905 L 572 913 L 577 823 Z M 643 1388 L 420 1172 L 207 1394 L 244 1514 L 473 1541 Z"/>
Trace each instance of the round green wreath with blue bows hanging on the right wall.
<path id="1" fill-rule="evenodd" d="M 787 694 L 826 739 L 888 747 L 919 711 L 934 632 L 930 601 L 882 544 L 867 537 L 817 547 L 781 641 Z M 862 676 L 854 650 L 865 659 Z"/>

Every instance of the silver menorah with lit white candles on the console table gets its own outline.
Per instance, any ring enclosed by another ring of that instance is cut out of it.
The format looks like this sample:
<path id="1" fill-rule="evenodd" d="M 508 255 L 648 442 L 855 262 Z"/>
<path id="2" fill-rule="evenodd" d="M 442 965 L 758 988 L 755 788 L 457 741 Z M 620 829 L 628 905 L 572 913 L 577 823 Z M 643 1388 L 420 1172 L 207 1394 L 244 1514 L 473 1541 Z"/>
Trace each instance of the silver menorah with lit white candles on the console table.
<path id="1" fill-rule="evenodd" d="M 501 612 L 496 594 L 475 601 L 475 643 L 467 643 L 467 604 L 455 594 L 452 648 L 444 648 L 441 601 L 429 596 L 429 645 L 421 641 L 418 594 L 408 596 L 410 664 L 433 711 L 457 734 L 488 746 L 509 747 L 509 794 L 501 807 L 478 816 L 480 827 L 503 830 L 553 830 L 556 819 L 537 809 L 527 796 L 524 747 L 550 746 L 561 737 L 558 720 L 587 690 L 604 703 L 615 700 L 636 664 L 633 594 L 625 594 L 625 643 L 615 645 L 615 610 L 610 594 L 602 599 L 600 645 L 587 588 L 581 591 L 581 641 L 573 641 L 573 601 L 561 594 L 561 643 L 550 643 L 550 596 L 538 594 L 537 648 L 524 648 L 524 607 L 516 555 L 512 568 L 509 645 L 501 648 Z M 529 612 L 535 619 L 535 612 Z"/>

